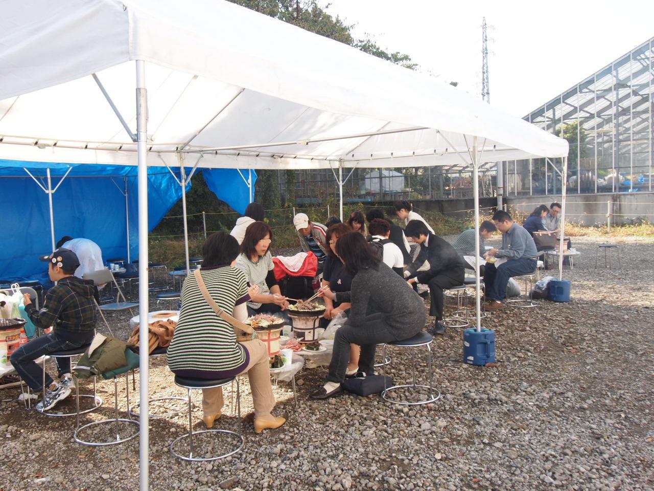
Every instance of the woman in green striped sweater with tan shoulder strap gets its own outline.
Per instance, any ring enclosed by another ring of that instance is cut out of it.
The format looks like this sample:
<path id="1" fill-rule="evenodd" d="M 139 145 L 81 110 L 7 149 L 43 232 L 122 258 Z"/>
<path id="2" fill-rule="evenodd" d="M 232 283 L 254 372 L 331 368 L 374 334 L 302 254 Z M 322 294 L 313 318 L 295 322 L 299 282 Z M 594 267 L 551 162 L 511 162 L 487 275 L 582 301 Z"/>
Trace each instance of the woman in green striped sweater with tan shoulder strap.
<path id="1" fill-rule="evenodd" d="M 239 253 L 236 239 L 227 232 L 211 234 L 202 247 L 204 261 L 199 270 L 211 298 L 239 321 L 247 319 L 245 302 L 256 295 L 248 289 L 243 271 L 234 267 Z M 247 373 L 254 403 L 254 431 L 282 426 L 271 410 L 275 396 L 270 384 L 270 365 L 266 344 L 258 339 L 237 342 L 232 325 L 211 308 L 191 274 L 184 281 L 182 308 L 173 340 L 168 347 L 168 367 L 173 373 L 190 378 L 219 380 Z M 208 428 L 222 414 L 222 388 L 202 390 L 203 421 Z"/>

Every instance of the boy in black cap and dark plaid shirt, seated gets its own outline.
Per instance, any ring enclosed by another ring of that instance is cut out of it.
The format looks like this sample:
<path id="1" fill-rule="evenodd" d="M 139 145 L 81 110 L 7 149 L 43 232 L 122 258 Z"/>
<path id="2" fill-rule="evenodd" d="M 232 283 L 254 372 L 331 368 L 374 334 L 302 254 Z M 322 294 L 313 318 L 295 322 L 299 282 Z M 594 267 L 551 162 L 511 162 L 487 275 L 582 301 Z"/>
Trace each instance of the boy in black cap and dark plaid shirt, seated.
<path id="1" fill-rule="evenodd" d="M 39 336 L 22 345 L 11 355 L 20 378 L 35 392 L 43 390 L 42 369 L 35 359 L 52 352 L 72 350 L 90 344 L 95 335 L 95 303 L 97 289 L 91 280 L 81 280 L 73 273 L 80 265 L 77 255 L 70 249 L 60 247 L 49 256 L 40 257 L 48 262 L 50 280 L 56 282 L 48 290 L 43 308 L 36 310 L 29 298 L 24 297 L 25 311 L 32 323 L 41 329 L 52 326 L 50 334 Z M 59 382 L 46 374 L 44 401 L 37 404 L 38 410 L 51 409 L 56 403 L 68 397 L 73 388 L 71 359 L 57 358 Z"/>

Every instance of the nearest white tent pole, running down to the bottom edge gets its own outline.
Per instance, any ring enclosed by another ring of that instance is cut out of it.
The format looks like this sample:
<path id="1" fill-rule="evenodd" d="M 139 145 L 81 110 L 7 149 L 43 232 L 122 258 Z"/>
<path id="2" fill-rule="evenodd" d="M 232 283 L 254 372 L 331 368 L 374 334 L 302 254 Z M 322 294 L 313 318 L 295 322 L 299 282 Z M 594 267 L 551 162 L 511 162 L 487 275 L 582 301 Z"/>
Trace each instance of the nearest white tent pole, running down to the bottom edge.
<path id="1" fill-rule="evenodd" d="M 148 98 L 145 88 L 145 62 L 136 60 L 136 134 L 138 159 L 138 189 L 139 189 L 139 318 L 148 318 L 148 162 L 147 162 L 147 131 L 148 131 Z M 139 335 L 141 339 L 148 338 L 148 323 L 141 321 Z M 149 425 L 149 360 L 148 350 L 139 352 L 139 489 L 148 491 L 150 480 L 150 432 Z"/>

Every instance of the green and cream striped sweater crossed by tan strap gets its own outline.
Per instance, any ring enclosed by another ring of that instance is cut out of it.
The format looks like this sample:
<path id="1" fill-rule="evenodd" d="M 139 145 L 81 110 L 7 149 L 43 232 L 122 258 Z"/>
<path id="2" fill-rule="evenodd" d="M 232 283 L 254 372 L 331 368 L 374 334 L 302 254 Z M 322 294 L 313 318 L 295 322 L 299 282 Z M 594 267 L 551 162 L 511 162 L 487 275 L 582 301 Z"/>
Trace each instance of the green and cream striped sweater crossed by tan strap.
<path id="1" fill-rule="evenodd" d="M 225 312 L 249 300 L 243 271 L 231 266 L 200 270 L 209 294 Z M 171 371 L 230 371 L 246 361 L 232 325 L 218 317 L 202 296 L 194 275 L 182 288 L 182 310 L 168 348 Z"/>

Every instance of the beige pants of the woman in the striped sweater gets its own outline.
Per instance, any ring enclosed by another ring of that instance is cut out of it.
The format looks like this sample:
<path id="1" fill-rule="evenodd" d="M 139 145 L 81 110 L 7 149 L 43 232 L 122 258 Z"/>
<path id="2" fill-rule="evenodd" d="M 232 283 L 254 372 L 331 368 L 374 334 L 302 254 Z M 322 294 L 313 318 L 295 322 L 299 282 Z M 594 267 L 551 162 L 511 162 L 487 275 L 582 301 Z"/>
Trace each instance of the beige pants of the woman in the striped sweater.
<path id="1" fill-rule="evenodd" d="M 255 339 L 242 342 L 241 345 L 250 355 L 250 362 L 240 374 L 247 372 L 250 380 L 254 416 L 256 418 L 270 417 L 270 412 L 275 407 L 275 396 L 270 384 L 270 362 L 266 344 L 262 340 Z M 222 410 L 223 404 L 222 387 L 202 390 L 202 409 L 206 416 L 218 414 Z"/>

